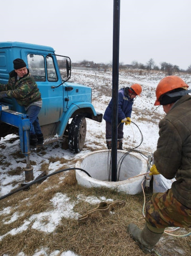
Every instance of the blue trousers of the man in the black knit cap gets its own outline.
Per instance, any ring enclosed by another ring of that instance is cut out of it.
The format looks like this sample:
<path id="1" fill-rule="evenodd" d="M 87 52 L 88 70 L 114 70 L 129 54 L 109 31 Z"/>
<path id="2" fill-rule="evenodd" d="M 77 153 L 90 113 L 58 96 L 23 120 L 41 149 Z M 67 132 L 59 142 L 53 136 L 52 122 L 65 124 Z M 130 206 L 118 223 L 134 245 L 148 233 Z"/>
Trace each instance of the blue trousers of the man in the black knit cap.
<path id="1" fill-rule="evenodd" d="M 41 128 L 38 121 L 38 113 L 40 112 L 41 107 L 32 105 L 28 108 L 26 111 L 26 115 L 29 116 L 31 128 L 30 128 L 30 134 L 41 134 Z"/>

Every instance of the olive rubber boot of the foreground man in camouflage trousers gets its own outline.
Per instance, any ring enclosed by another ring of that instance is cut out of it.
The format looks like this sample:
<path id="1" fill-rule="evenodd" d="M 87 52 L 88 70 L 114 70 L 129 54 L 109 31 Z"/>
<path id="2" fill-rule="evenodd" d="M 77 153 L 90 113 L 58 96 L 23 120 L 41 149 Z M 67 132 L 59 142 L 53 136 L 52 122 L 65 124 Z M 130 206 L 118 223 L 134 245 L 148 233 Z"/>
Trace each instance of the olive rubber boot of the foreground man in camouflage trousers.
<path id="1" fill-rule="evenodd" d="M 137 225 L 130 223 L 127 227 L 127 232 L 130 236 L 139 243 L 140 249 L 145 253 L 153 252 L 154 245 L 160 240 L 162 233 L 154 233 L 150 231 L 147 225 L 144 225 L 143 230 L 140 230 Z"/>

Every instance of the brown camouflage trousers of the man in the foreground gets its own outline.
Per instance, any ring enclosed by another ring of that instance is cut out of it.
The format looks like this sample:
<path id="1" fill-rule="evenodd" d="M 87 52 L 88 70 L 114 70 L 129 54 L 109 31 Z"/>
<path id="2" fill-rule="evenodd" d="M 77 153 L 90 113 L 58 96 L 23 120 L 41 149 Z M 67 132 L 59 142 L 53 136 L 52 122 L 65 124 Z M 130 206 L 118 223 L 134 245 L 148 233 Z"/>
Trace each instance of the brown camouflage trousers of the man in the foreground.
<path id="1" fill-rule="evenodd" d="M 166 227 L 190 228 L 191 209 L 178 202 L 170 189 L 153 194 L 146 205 L 145 220 L 153 232 L 156 228 L 161 229 L 161 233 Z"/>

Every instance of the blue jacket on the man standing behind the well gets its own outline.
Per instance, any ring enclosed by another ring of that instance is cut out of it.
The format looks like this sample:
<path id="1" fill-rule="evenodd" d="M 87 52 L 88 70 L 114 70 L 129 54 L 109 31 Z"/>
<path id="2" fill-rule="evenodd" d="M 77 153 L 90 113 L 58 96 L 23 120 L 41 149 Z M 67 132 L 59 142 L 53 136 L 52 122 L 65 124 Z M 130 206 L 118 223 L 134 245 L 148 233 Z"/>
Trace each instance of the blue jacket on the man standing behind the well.
<path id="1" fill-rule="evenodd" d="M 133 102 L 134 102 L 134 99 L 130 99 L 129 95 L 124 95 L 124 88 L 119 90 L 118 92 L 118 124 L 121 123 L 122 119 L 126 117 L 131 117 Z M 111 118 L 112 118 L 112 99 L 110 100 L 110 103 L 107 106 L 106 111 L 103 115 L 103 119 L 109 123 L 111 123 Z"/>

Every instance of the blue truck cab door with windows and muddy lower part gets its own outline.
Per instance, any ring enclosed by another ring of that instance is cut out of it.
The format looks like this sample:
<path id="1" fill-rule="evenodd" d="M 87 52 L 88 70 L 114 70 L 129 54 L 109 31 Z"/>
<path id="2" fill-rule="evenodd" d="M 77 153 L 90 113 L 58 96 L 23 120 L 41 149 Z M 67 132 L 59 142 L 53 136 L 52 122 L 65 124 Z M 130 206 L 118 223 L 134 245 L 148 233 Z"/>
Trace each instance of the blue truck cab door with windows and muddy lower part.
<path id="1" fill-rule="evenodd" d="M 63 113 L 63 87 L 51 88 L 61 83 L 55 58 L 47 56 L 44 52 L 38 51 L 37 54 L 37 51 L 30 50 L 27 53 L 27 62 L 42 97 L 42 109 L 38 115 L 39 123 L 40 125 L 56 123 Z"/>

